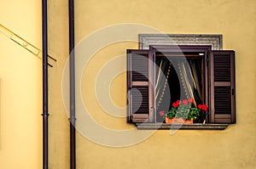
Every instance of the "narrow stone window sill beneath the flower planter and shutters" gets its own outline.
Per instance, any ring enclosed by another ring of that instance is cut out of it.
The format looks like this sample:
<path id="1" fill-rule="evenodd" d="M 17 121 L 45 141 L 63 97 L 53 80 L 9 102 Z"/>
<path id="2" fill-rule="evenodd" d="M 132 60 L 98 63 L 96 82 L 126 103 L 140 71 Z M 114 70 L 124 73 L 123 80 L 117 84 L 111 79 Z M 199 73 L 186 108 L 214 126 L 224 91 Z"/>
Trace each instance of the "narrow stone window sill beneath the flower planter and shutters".
<path id="1" fill-rule="evenodd" d="M 170 129 L 193 129 L 193 130 L 224 130 L 228 124 L 166 124 L 166 123 L 136 123 L 138 130 L 170 130 Z"/>

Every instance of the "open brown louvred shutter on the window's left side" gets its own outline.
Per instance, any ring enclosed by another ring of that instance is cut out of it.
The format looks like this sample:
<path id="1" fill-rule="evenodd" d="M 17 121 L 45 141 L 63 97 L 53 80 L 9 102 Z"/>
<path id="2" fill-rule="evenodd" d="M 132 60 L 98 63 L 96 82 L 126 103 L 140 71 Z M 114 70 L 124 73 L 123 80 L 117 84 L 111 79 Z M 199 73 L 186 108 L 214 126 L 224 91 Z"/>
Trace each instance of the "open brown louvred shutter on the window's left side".
<path id="1" fill-rule="evenodd" d="M 152 59 L 148 50 L 127 50 L 127 122 L 152 122 Z"/>

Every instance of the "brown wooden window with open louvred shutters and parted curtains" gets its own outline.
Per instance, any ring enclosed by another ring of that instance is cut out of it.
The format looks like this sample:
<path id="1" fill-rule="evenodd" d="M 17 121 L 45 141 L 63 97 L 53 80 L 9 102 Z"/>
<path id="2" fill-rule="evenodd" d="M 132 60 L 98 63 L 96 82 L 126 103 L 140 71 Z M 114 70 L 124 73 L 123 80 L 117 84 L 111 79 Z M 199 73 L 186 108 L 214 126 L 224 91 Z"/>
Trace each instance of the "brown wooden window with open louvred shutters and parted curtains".
<path id="1" fill-rule="evenodd" d="M 127 70 L 128 122 L 161 122 L 160 110 L 189 98 L 209 105 L 197 122 L 236 122 L 234 51 L 189 45 L 128 49 Z"/>

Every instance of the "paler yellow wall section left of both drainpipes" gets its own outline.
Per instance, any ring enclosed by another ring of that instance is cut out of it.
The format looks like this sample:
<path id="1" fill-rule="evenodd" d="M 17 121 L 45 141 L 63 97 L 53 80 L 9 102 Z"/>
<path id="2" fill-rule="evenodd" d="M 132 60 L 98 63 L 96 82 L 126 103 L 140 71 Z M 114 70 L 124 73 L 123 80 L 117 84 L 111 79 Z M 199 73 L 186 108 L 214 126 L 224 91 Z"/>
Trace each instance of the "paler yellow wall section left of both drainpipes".
<path id="1" fill-rule="evenodd" d="M 0 168 L 41 168 L 42 59 L 9 38 L 41 48 L 41 2 L 1 0 L 0 24 Z"/>

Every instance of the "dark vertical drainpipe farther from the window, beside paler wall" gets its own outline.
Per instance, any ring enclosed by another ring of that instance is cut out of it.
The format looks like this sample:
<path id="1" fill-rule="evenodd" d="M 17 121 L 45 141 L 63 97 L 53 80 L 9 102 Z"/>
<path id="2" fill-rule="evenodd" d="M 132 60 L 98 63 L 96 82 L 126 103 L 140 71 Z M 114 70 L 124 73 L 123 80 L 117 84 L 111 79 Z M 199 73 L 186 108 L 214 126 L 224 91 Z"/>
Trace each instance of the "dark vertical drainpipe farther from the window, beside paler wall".
<path id="1" fill-rule="evenodd" d="M 43 29 L 43 168 L 48 169 L 48 33 L 47 0 L 42 0 Z"/>

